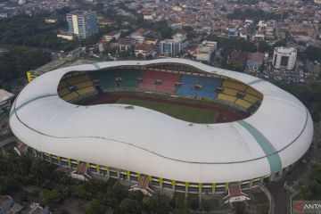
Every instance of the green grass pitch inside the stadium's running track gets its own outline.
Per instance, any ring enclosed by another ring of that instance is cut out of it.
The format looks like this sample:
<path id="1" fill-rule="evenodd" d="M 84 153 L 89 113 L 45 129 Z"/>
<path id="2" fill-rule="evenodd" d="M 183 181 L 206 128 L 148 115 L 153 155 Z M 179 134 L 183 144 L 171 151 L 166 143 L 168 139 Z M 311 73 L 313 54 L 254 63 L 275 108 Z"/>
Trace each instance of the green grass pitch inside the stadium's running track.
<path id="1" fill-rule="evenodd" d="M 135 99 L 120 99 L 118 103 L 137 105 L 153 111 L 160 111 L 169 116 L 182 119 L 193 123 L 214 123 L 218 112 L 210 110 L 202 110 L 193 107 L 179 106 L 169 103 L 155 103 L 151 101 L 135 100 Z"/>

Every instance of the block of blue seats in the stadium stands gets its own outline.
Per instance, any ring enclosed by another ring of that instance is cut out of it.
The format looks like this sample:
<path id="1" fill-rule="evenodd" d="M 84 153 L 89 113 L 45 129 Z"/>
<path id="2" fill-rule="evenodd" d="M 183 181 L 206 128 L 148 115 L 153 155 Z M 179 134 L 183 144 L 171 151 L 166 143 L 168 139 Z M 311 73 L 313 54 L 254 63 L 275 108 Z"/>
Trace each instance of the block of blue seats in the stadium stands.
<path id="1" fill-rule="evenodd" d="M 192 75 L 183 75 L 181 78 L 182 86 L 177 88 L 178 95 L 191 95 L 203 98 L 217 97 L 216 88 L 221 85 L 222 80 L 219 78 L 203 78 Z M 195 86 L 201 86 L 200 89 L 195 89 Z"/>

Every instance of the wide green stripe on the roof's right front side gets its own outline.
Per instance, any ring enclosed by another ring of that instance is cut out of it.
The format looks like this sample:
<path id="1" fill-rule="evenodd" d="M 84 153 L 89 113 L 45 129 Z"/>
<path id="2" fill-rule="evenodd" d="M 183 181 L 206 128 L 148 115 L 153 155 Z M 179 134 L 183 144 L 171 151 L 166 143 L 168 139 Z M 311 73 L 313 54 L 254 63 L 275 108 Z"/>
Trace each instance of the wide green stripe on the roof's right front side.
<path id="1" fill-rule="evenodd" d="M 263 136 L 258 129 L 251 126 L 251 124 L 245 122 L 244 120 L 237 121 L 243 128 L 250 132 L 251 136 L 259 143 L 259 146 L 263 152 L 267 155 L 268 164 L 270 166 L 271 173 L 278 172 L 282 169 L 282 161 L 276 149 L 268 141 L 268 139 Z"/>

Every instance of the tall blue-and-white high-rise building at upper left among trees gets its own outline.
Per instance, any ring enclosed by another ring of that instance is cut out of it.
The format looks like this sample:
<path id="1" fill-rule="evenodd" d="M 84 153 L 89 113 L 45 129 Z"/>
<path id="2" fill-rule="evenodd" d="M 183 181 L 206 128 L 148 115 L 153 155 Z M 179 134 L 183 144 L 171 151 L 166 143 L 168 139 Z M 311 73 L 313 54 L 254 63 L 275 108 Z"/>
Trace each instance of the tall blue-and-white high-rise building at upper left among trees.
<path id="1" fill-rule="evenodd" d="M 67 14 L 68 31 L 79 38 L 86 38 L 98 32 L 97 12 L 73 11 Z"/>

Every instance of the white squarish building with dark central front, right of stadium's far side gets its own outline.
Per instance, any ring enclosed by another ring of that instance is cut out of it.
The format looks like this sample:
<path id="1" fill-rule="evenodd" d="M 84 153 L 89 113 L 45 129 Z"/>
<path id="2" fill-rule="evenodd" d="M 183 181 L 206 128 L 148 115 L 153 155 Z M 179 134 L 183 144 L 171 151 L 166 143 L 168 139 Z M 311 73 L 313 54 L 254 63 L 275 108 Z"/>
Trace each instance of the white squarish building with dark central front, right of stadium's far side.
<path id="1" fill-rule="evenodd" d="M 276 47 L 273 54 L 275 69 L 292 70 L 295 67 L 297 50 L 293 47 Z"/>

